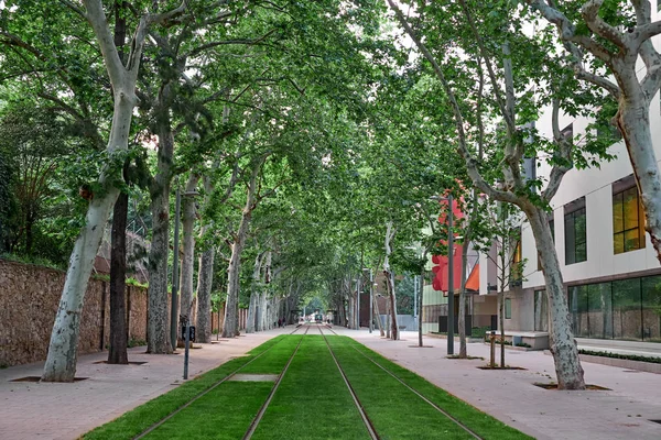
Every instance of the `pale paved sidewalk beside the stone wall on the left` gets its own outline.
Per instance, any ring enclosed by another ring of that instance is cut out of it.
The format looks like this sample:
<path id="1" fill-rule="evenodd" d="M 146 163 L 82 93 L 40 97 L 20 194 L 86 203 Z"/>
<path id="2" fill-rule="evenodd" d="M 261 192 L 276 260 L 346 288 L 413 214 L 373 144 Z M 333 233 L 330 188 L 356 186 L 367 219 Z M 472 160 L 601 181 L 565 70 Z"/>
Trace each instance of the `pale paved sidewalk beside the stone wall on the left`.
<path id="1" fill-rule="evenodd" d="M 191 350 L 188 377 L 293 329 L 290 326 L 196 344 L 203 348 Z M 9 382 L 41 376 L 43 362 L 0 370 L 0 439 L 76 439 L 184 382 L 183 349 L 173 355 L 145 354 L 144 349 L 129 350 L 129 362 L 147 362 L 143 365 L 96 364 L 108 358 L 107 352 L 80 356 L 76 377 L 89 378 L 74 384 Z"/>

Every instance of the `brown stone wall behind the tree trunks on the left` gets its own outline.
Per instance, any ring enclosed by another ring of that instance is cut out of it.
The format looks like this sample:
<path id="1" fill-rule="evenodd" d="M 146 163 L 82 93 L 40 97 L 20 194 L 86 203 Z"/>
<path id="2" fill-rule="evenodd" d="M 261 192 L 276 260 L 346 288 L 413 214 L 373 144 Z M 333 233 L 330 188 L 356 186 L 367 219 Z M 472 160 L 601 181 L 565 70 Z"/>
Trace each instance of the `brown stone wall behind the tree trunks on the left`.
<path id="1" fill-rule="evenodd" d="M 44 361 L 65 273 L 0 260 L 0 365 Z M 147 340 L 147 289 L 128 286 L 129 340 Z M 109 284 L 90 279 L 78 354 L 104 350 L 110 333 Z"/>

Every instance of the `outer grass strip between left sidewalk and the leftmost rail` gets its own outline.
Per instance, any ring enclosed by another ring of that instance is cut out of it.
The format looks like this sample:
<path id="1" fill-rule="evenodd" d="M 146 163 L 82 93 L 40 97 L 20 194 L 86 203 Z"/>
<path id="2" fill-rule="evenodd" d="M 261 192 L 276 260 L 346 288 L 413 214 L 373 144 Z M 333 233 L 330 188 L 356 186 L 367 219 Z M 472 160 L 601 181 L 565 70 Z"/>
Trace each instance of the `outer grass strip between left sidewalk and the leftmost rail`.
<path id="1" fill-rule="evenodd" d="M 123 414 L 119 418 L 87 432 L 84 438 L 89 440 L 132 439 L 152 425 L 156 424 L 176 409 L 187 404 L 198 394 L 210 388 L 218 381 L 227 377 L 235 370 L 246 365 L 246 363 L 251 361 L 254 356 L 271 348 L 274 348 L 283 340 L 283 336 L 273 338 L 251 350 L 250 355 L 228 361 L 223 365 L 194 378 L 193 381 L 185 382 L 178 387 L 156 397 L 155 399 L 147 402 L 139 407 Z"/>

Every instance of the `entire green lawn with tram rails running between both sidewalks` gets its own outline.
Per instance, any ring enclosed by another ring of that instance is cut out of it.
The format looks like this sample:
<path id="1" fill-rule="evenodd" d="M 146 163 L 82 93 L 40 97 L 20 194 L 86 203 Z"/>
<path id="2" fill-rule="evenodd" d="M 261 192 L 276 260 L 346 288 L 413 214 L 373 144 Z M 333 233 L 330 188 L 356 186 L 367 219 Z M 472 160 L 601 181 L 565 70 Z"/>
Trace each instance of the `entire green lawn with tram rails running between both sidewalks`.
<path id="1" fill-rule="evenodd" d="M 382 439 L 473 437 L 370 359 L 480 437 L 530 439 L 349 338 L 327 337 L 327 340 Z M 134 438 L 238 369 L 242 374 L 279 374 L 299 343 L 299 351 L 253 438 L 369 439 L 328 346 L 318 334 L 274 338 L 252 350 L 249 355 L 227 362 L 88 432 L 85 439 Z M 224 382 L 159 426 L 147 438 L 240 439 L 272 387 L 272 382 Z"/>

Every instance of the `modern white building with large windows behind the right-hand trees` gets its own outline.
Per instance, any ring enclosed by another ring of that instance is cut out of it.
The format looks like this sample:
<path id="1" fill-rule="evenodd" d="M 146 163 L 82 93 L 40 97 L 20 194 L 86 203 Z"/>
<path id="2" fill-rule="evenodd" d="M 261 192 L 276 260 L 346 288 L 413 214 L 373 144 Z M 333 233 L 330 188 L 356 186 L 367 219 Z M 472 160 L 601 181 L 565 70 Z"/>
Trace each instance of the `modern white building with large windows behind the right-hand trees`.
<path id="1" fill-rule="evenodd" d="M 661 139 L 659 100 L 650 110 L 652 139 Z M 551 138 L 551 118 L 538 122 Z M 585 132 L 588 121 L 565 117 L 567 135 Z M 661 142 L 654 145 L 661 157 Z M 599 168 L 572 169 L 552 200 L 549 221 L 562 268 L 576 338 L 661 342 L 661 264 L 646 233 L 640 196 L 622 141 L 610 150 L 617 158 Z M 539 163 L 539 173 L 548 166 Z M 505 329 L 546 332 L 549 307 L 532 231 L 521 224 L 521 283 L 505 294 Z M 480 295 L 496 285 L 494 264 L 479 258 Z M 579 341 L 581 342 L 581 341 Z"/>

